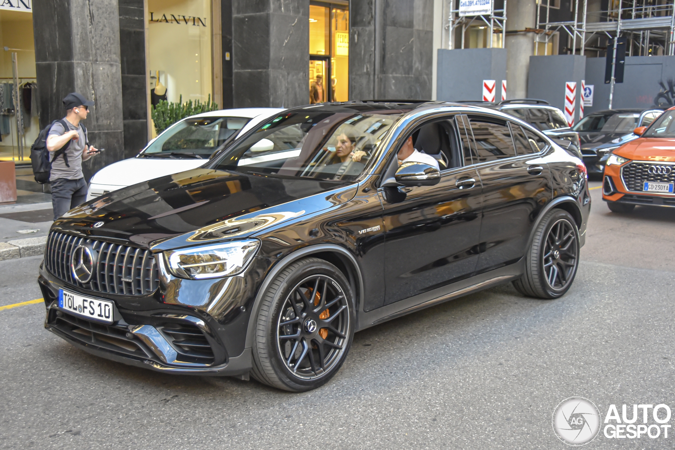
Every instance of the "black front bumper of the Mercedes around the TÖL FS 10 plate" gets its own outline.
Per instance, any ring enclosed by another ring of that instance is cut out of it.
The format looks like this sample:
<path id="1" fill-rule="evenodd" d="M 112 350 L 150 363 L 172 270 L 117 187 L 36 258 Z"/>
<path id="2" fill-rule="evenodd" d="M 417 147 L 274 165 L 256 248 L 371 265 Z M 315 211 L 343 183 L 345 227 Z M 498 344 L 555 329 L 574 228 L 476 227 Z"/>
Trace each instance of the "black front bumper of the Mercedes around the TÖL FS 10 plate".
<path id="1" fill-rule="evenodd" d="M 254 258 L 242 276 L 161 280 L 149 296 L 121 296 L 63 282 L 43 264 L 38 284 L 47 309 L 45 328 L 90 354 L 124 364 L 163 373 L 244 376 L 252 367 L 245 340 L 256 279 L 267 268 L 269 260 Z M 59 309 L 59 289 L 112 300 L 113 323 Z"/>

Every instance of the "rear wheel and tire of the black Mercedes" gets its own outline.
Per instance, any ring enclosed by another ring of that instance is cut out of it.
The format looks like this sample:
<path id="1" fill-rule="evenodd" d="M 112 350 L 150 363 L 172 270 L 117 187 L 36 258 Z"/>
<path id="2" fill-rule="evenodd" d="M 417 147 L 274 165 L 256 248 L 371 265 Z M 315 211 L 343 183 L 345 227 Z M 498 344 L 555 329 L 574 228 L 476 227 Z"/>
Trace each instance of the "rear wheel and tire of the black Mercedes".
<path id="1" fill-rule="evenodd" d="M 576 222 L 570 213 L 554 208 L 537 225 L 525 253 L 525 273 L 513 285 L 526 296 L 547 300 L 558 298 L 572 286 L 578 264 Z"/>

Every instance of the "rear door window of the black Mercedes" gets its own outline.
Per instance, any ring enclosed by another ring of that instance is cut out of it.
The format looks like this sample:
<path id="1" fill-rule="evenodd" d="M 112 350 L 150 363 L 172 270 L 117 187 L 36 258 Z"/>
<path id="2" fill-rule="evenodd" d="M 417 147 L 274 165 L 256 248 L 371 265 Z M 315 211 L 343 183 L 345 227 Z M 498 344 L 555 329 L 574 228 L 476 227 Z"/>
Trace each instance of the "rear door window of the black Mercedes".
<path id="1" fill-rule="evenodd" d="M 506 122 L 499 123 L 498 119 L 470 119 L 473 139 L 476 142 L 478 162 L 496 161 L 502 158 L 516 156 L 511 132 Z"/>

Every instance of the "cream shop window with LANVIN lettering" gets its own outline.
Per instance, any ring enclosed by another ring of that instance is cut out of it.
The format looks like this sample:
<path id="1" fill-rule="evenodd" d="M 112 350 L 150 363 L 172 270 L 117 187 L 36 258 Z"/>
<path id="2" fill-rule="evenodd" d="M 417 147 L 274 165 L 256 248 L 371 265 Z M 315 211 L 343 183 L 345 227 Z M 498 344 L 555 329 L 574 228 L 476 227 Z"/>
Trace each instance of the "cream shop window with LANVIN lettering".
<path id="1" fill-rule="evenodd" d="M 211 86 L 211 0 L 147 0 L 150 101 L 206 102 Z"/>

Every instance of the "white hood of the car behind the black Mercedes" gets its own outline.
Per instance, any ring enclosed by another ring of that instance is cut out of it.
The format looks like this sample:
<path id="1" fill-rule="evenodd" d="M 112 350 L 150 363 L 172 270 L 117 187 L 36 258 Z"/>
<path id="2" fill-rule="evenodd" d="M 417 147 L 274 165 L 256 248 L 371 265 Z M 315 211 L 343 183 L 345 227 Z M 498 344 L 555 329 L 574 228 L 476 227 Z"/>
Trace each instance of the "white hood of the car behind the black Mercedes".
<path id="1" fill-rule="evenodd" d="M 200 159 L 129 158 L 105 166 L 92 176 L 96 185 L 131 186 L 159 176 L 197 168 L 207 163 Z"/>

